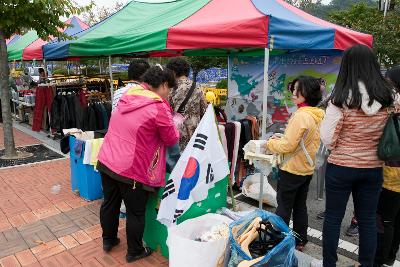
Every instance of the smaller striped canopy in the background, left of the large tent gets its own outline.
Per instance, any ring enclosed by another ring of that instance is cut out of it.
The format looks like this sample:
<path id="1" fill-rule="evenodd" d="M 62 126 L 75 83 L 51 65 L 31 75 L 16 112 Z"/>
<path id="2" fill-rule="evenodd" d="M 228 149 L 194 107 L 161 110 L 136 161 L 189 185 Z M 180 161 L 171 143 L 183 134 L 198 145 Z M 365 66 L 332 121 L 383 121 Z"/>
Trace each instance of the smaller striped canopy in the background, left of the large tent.
<path id="1" fill-rule="evenodd" d="M 71 19 L 67 20 L 65 24 L 68 26 L 65 27 L 65 29 L 61 29 L 60 32 L 63 32 L 69 36 L 89 28 L 87 24 L 82 22 L 77 17 L 72 17 Z M 42 60 L 42 46 L 46 43 L 47 41 L 39 38 L 36 31 L 29 31 L 22 36 L 17 35 L 12 39 L 10 38 L 10 42 L 7 44 L 8 59 L 10 61 Z"/>

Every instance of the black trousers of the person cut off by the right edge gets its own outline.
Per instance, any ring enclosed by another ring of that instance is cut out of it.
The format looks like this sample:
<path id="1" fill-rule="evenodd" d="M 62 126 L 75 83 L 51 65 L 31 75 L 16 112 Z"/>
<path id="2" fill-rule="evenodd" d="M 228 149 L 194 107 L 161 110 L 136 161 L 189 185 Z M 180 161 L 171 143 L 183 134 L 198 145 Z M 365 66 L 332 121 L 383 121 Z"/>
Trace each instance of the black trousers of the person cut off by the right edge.
<path id="1" fill-rule="evenodd" d="M 378 247 L 375 265 L 396 259 L 400 246 L 400 193 L 383 188 L 377 210 Z"/>

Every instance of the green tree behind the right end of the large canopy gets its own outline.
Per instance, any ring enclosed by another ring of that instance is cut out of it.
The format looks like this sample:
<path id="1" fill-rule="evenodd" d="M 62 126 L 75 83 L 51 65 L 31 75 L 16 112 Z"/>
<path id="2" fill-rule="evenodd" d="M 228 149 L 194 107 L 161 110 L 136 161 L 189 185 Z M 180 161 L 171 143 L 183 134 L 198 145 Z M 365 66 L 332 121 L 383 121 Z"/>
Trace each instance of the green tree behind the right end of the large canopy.
<path id="1" fill-rule="evenodd" d="M 345 11 L 330 14 L 333 23 L 374 36 L 374 50 L 386 67 L 400 64 L 400 14 L 388 12 L 383 18 L 377 6 L 357 4 Z"/>

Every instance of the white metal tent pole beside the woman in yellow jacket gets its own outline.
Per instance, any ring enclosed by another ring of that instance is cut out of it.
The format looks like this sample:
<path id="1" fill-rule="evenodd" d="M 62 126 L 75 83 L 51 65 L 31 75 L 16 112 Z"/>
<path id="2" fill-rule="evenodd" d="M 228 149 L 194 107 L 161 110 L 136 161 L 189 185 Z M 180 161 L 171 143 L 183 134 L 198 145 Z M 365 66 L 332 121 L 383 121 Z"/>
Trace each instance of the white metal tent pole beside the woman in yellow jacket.
<path id="1" fill-rule="evenodd" d="M 267 118 L 268 118 L 268 95 L 269 95 L 269 83 L 268 83 L 268 68 L 269 68 L 269 48 L 265 48 L 264 52 L 264 90 L 263 90 L 263 110 L 262 110 L 262 139 L 267 138 Z M 260 174 L 260 197 L 258 199 L 258 206 L 260 209 L 263 208 L 263 194 L 264 194 L 264 175 Z"/>

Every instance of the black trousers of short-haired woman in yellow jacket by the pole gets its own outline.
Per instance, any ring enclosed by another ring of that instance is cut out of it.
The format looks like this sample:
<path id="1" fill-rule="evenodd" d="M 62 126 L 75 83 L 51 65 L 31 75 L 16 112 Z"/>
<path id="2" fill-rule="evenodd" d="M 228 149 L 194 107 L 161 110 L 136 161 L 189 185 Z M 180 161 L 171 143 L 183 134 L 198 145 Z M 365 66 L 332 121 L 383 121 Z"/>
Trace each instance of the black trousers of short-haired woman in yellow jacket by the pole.
<path id="1" fill-rule="evenodd" d="M 307 195 L 312 175 L 301 176 L 279 171 L 276 214 L 289 225 L 293 212 L 293 230 L 299 235 L 297 244 L 306 244 L 308 229 Z"/>

